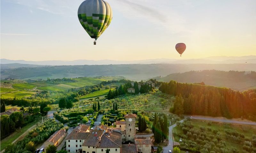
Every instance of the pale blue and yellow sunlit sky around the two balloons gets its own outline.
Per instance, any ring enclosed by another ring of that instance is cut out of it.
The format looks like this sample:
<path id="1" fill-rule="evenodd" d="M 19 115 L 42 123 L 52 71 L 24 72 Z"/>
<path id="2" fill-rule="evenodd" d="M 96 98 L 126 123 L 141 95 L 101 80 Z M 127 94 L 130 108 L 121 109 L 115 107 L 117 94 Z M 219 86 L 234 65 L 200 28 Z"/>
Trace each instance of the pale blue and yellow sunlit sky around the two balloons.
<path id="1" fill-rule="evenodd" d="M 256 55 L 255 0 L 106 0 L 113 19 L 93 45 L 83 0 L 1 0 L 1 58 L 144 60 Z M 177 43 L 185 43 L 180 55 Z"/>

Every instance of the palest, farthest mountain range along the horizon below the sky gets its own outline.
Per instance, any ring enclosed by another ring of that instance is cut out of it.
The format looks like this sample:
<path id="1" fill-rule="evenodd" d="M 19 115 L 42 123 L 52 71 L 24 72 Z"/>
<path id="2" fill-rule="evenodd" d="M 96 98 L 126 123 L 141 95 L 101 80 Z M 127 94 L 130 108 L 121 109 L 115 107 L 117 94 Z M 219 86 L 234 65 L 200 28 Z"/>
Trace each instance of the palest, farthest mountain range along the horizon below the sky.
<path id="1" fill-rule="evenodd" d="M 109 64 L 235 64 L 235 63 L 256 63 L 256 56 L 212 56 L 199 59 L 148 59 L 138 61 L 116 61 L 116 60 L 75 60 L 75 61 L 24 61 L 1 59 L 1 67 L 35 67 L 29 65 L 2 65 L 2 64 L 32 64 L 32 65 L 109 65 Z"/>

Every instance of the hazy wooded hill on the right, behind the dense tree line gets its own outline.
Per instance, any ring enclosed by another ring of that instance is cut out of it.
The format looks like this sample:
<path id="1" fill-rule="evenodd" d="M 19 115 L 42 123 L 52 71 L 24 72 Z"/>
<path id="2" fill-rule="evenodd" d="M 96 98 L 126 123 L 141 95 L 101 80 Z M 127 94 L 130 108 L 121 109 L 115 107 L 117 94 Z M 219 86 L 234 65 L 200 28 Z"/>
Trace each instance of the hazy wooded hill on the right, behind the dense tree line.
<path id="1" fill-rule="evenodd" d="M 157 81 L 169 82 L 175 80 L 182 83 L 201 83 L 218 87 L 228 87 L 238 91 L 256 89 L 256 72 L 239 71 L 189 71 L 173 73 L 165 77 L 155 77 Z"/>

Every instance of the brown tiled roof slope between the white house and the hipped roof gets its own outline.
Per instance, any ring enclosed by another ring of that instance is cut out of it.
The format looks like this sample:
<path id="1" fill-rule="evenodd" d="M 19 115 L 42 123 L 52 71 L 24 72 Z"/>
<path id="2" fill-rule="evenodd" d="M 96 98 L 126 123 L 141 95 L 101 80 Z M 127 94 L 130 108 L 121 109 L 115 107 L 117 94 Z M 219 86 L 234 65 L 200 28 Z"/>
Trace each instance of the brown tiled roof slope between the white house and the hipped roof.
<path id="1" fill-rule="evenodd" d="M 102 136 L 104 130 L 92 130 L 90 134 L 86 137 L 82 146 L 99 147 L 100 137 Z"/>

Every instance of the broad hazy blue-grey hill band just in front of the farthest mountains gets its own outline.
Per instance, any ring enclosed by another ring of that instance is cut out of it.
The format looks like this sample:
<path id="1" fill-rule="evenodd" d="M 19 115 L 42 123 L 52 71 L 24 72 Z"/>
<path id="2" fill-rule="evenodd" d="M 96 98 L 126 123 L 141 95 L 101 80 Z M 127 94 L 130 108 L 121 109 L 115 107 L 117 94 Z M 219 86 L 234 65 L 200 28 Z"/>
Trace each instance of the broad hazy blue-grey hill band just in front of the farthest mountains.
<path id="1" fill-rule="evenodd" d="M 116 64 L 116 65 L 64 65 L 2 69 L 1 79 L 47 79 L 63 77 L 123 76 L 132 80 L 145 80 L 172 73 L 192 70 L 256 71 L 256 64 Z"/>

